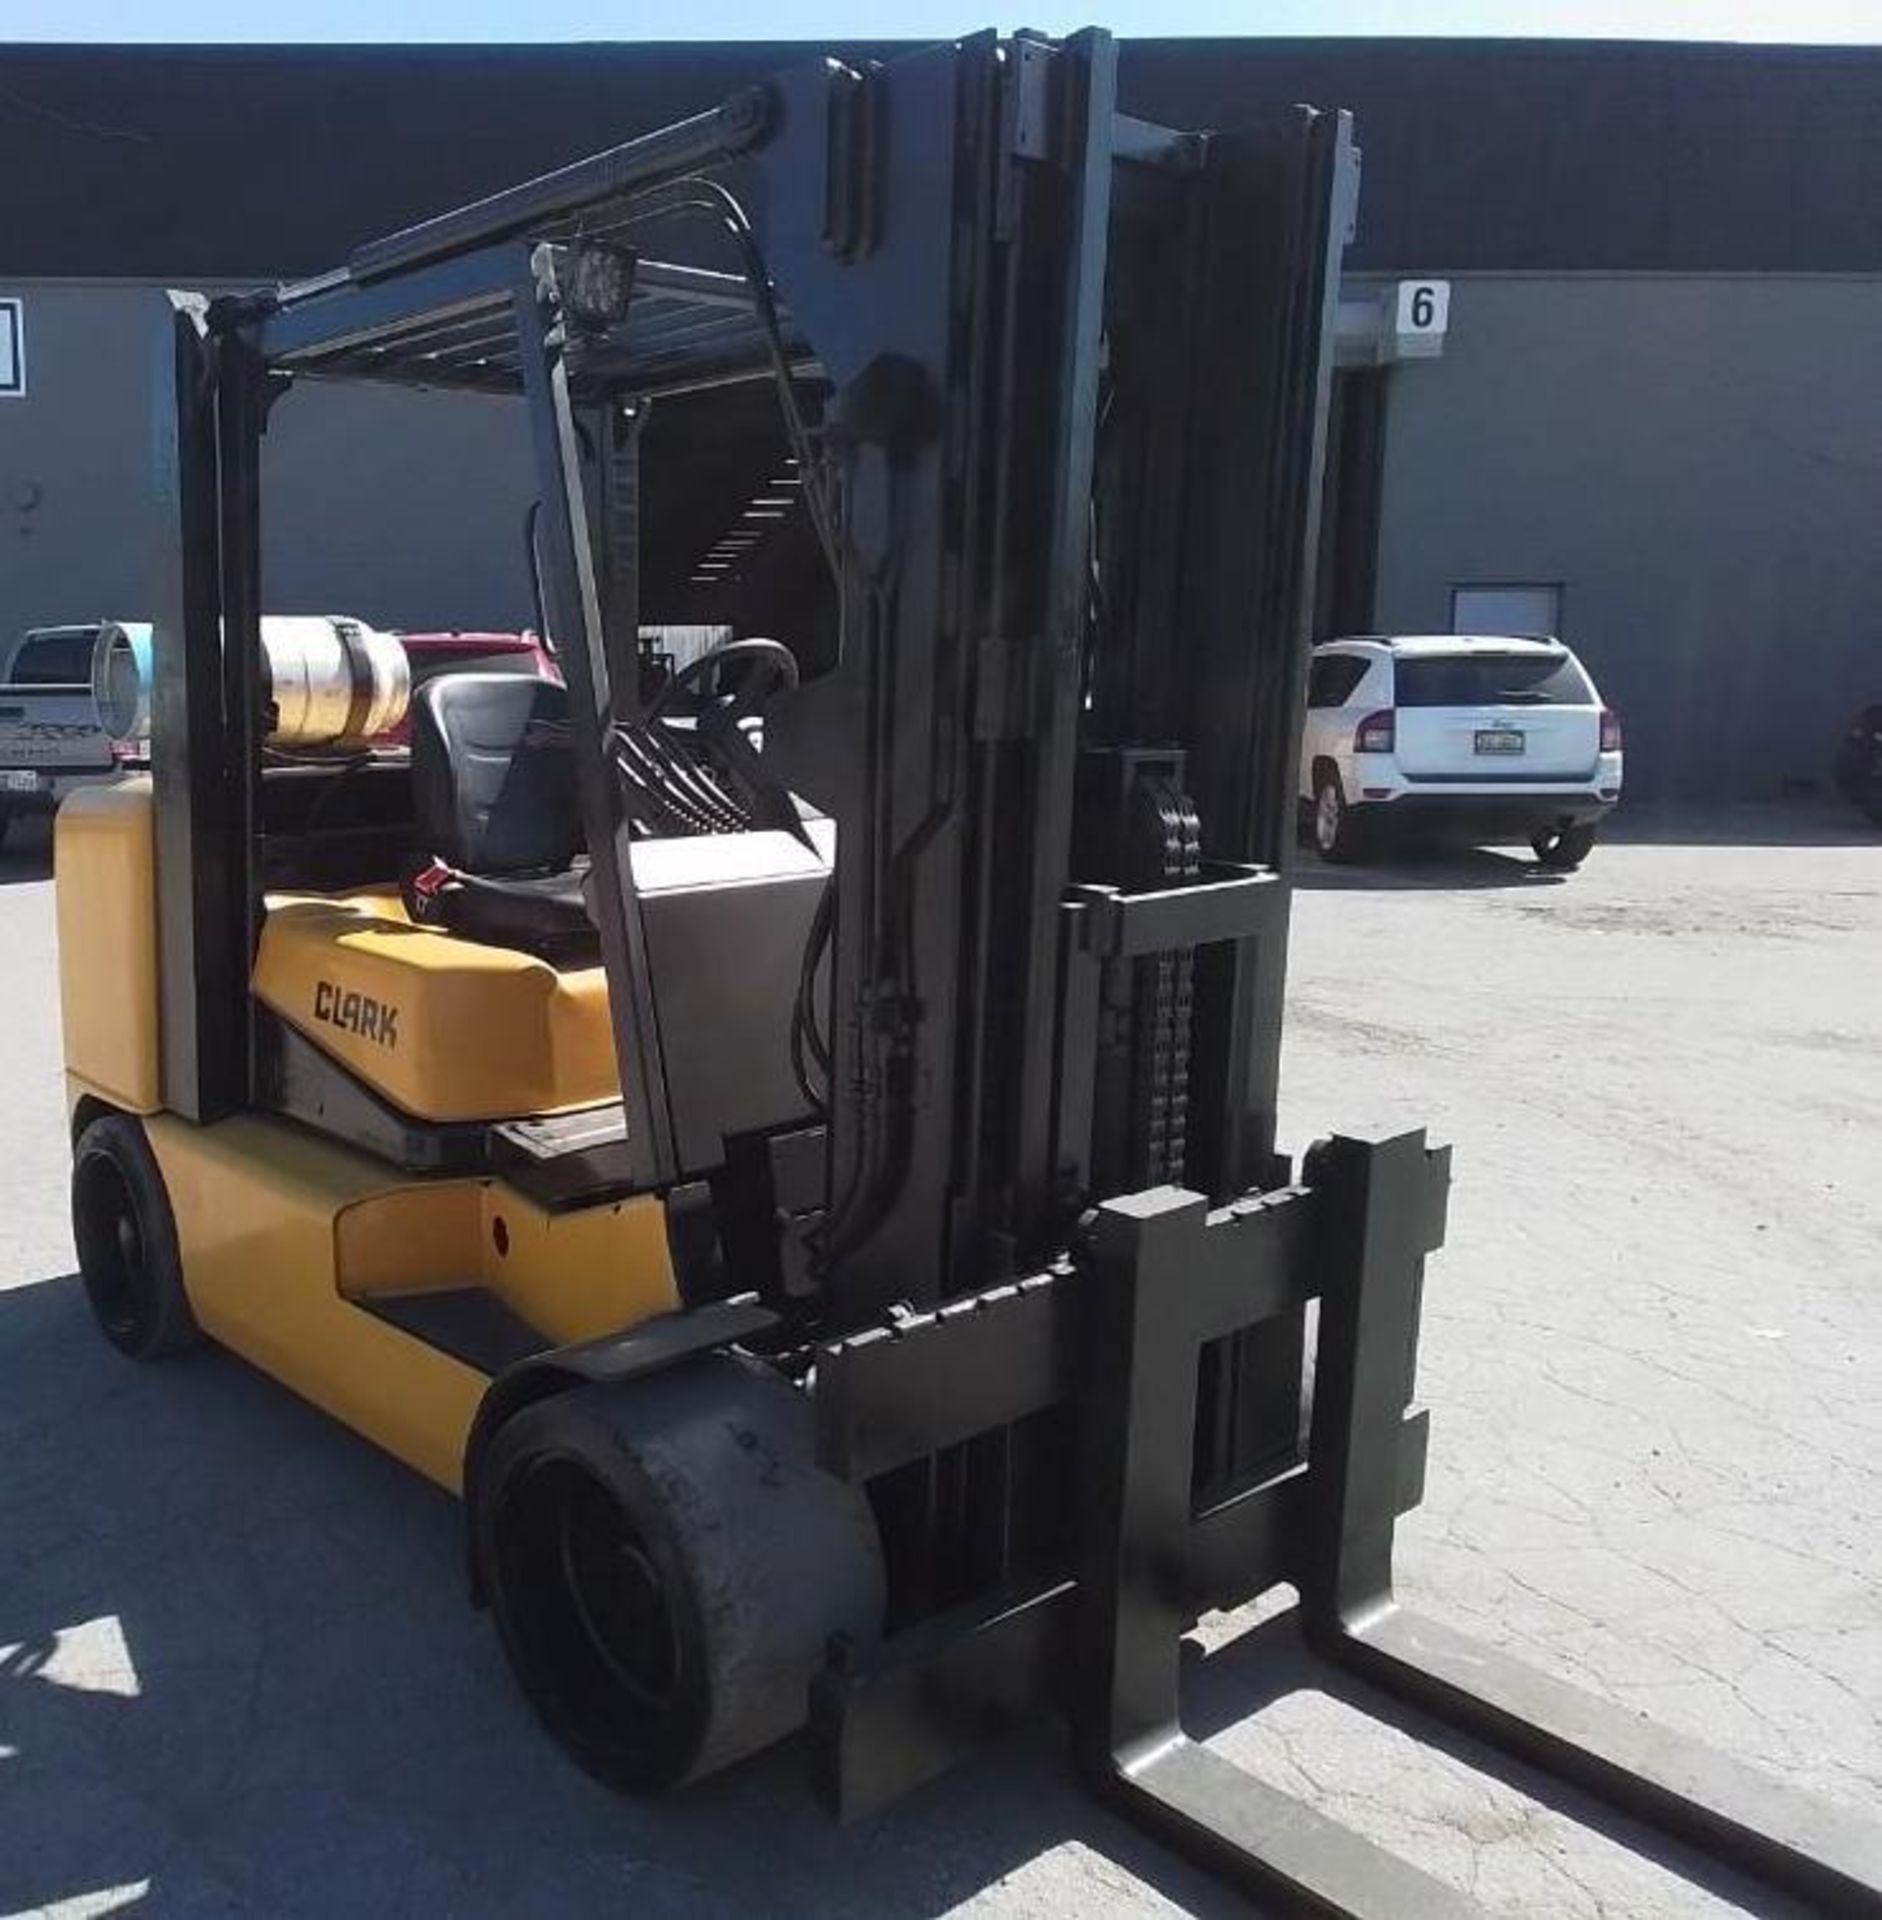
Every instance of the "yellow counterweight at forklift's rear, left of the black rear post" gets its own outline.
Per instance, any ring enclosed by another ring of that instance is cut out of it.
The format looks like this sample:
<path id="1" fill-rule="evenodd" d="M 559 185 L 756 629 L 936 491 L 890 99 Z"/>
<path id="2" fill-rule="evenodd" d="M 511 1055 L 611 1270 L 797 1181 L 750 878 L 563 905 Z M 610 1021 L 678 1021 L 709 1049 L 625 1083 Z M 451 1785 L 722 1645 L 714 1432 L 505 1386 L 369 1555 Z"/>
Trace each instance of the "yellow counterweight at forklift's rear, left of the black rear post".
<path id="1" fill-rule="evenodd" d="M 65 1071 L 133 1114 L 163 1098 L 157 835 L 150 780 L 79 787 L 52 829 Z"/>

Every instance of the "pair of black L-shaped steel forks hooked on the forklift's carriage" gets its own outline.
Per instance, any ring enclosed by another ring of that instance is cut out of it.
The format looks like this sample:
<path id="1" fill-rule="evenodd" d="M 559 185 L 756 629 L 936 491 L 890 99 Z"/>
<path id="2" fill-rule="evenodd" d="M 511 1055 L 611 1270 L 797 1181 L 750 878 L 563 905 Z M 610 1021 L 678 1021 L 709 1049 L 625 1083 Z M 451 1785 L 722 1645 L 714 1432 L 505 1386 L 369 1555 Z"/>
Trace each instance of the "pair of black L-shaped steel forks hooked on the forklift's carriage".
<path id="1" fill-rule="evenodd" d="M 1832 1912 L 1882 1912 L 1882 1830 L 1728 1755 L 1663 1732 L 1494 1647 L 1423 1619 L 1392 1594 L 1392 1534 L 1423 1469 L 1423 1419 L 1408 1421 L 1423 1256 L 1442 1238 L 1448 1164 L 1421 1135 L 1327 1142 L 1308 1162 L 1323 1210 L 1319 1340 L 1300 1605 L 1310 1642 L 1517 1761 L 1573 1782 Z M 1260 1202 L 1256 1204 L 1260 1217 Z M 1171 1559 L 1191 1524 L 1189 1421 L 1202 1304 L 1185 1275 L 1206 1236 L 1233 1233 L 1193 1194 L 1162 1190 L 1100 1212 L 1097 1265 L 1114 1338 L 1133 1359 L 1106 1423 L 1106 1484 L 1091 1513 L 1087 1630 L 1100 1686 L 1075 1703 L 1087 1776 L 1181 1851 L 1310 1912 L 1381 1916 L 1475 1910 L 1310 1807 L 1187 1740 L 1177 1713 Z M 1189 1311 L 1185 1313 L 1185 1308 Z M 1204 1329 L 1206 1332 L 1206 1329 Z M 1162 1417 L 1158 1417 L 1162 1415 Z M 1171 1551 L 1173 1549 L 1173 1551 Z"/>

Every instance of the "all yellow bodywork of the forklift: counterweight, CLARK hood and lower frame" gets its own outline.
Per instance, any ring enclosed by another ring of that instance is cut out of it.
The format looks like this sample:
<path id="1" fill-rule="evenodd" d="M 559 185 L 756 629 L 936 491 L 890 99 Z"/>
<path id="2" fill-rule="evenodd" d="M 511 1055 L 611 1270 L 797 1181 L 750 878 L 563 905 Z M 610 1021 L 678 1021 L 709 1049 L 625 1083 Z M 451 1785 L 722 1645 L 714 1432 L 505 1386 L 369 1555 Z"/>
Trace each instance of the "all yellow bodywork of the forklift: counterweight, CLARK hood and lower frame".
<path id="1" fill-rule="evenodd" d="M 501 1181 L 413 1181 L 271 1116 L 161 1114 L 156 816 L 148 780 L 81 789 L 56 828 L 67 1094 L 150 1116 L 204 1331 L 457 1492 L 482 1371 L 363 1304 L 484 1286 L 545 1344 L 674 1309 L 659 1198 L 547 1213 Z M 424 1119 L 618 1094 L 601 968 L 411 925 L 392 891 L 269 902 L 255 993 Z M 229 1010 L 238 1018 L 238 1010 Z"/>

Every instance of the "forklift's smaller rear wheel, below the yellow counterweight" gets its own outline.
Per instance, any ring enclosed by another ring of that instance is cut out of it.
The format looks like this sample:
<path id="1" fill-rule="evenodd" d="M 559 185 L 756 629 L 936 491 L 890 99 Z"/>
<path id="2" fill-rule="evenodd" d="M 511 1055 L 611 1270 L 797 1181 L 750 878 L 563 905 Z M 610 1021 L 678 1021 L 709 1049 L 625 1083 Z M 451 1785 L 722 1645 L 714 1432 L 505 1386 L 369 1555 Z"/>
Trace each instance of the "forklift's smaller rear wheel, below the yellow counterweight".
<path id="1" fill-rule="evenodd" d="M 111 1346 L 133 1359 L 165 1359 L 202 1342 L 182 1288 L 177 1215 L 144 1127 L 129 1114 L 104 1114 L 79 1135 L 71 1235 L 84 1294 Z"/>

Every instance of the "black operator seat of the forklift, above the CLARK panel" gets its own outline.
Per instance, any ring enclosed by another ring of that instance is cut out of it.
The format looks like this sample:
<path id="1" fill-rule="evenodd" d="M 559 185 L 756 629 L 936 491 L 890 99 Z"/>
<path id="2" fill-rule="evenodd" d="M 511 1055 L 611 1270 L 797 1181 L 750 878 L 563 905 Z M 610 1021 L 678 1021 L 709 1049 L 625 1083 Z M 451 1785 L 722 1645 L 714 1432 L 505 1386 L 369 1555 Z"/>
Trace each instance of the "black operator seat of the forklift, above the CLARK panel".
<path id="1" fill-rule="evenodd" d="M 440 674 L 411 703 L 419 925 L 591 962 L 568 693 L 522 674 Z"/>

